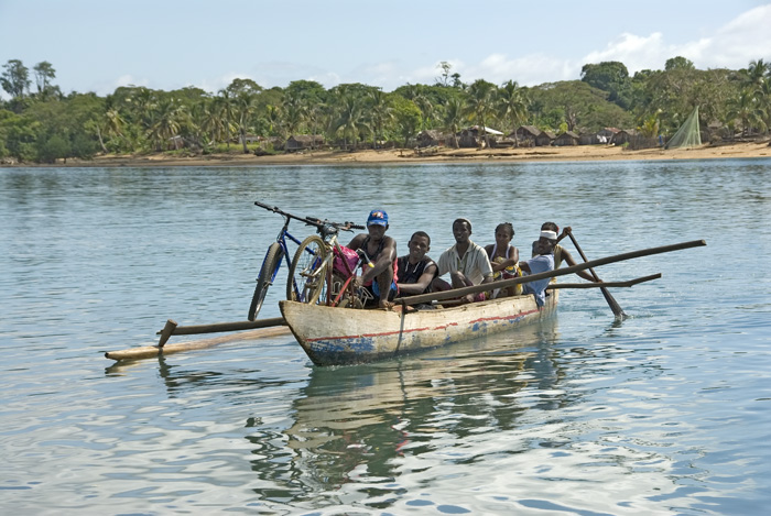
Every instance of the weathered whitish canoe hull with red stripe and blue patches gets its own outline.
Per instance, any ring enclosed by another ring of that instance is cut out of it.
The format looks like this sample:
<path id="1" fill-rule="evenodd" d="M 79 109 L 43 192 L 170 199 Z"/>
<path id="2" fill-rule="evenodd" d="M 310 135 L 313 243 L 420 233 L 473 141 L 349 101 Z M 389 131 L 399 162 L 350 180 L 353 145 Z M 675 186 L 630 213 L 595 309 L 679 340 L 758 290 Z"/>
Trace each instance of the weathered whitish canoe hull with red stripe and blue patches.
<path id="1" fill-rule="evenodd" d="M 532 296 L 414 311 L 355 310 L 283 300 L 281 314 L 316 365 L 372 362 L 476 339 L 550 316 L 553 292 L 539 309 Z"/>

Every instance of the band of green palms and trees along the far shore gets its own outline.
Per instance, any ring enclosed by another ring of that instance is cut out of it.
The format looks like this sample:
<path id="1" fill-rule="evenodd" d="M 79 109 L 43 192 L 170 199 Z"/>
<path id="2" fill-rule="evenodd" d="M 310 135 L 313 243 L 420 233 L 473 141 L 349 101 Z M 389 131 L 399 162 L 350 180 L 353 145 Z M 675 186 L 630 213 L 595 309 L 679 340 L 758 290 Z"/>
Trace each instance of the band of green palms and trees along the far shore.
<path id="1" fill-rule="evenodd" d="M 695 106 L 709 138 L 768 135 L 771 127 L 771 63 L 747 68 L 696 69 L 684 57 L 663 70 L 630 76 L 619 62 L 587 64 L 580 79 L 534 87 L 515 80 L 470 84 L 443 62 L 433 85 L 406 84 L 391 92 L 362 84 L 326 89 L 312 80 L 263 88 L 235 79 L 210 94 L 186 87 L 172 91 L 140 86 L 106 97 L 63 94 L 47 62 L 32 73 L 19 59 L 2 66 L 0 160 L 55 163 L 98 153 L 167 152 L 184 142 L 186 152 L 275 152 L 264 142 L 319 134 L 340 149 L 394 142 L 410 146 L 422 130 L 457 134 L 476 124 L 506 133 L 534 125 L 553 133 L 591 133 L 602 128 L 637 129 L 653 138 L 671 135 Z M 234 147 L 231 147 L 234 145 Z"/>

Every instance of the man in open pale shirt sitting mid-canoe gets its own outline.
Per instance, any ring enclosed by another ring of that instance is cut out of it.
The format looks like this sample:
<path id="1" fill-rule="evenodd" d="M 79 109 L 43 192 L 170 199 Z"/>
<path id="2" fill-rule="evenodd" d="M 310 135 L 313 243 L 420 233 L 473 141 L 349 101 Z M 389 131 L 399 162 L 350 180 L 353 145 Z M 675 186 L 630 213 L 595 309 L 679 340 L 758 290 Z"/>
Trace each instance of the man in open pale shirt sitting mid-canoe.
<path id="1" fill-rule="evenodd" d="M 455 237 L 455 245 L 439 256 L 438 275 L 443 276 L 449 273 L 452 288 L 491 283 L 490 259 L 487 257 L 481 245 L 471 241 L 471 222 L 467 219 L 456 219 L 453 222 L 453 235 Z M 446 285 L 446 282 L 437 277 L 434 281 L 434 287 L 437 287 L 435 289 L 441 289 L 442 283 Z M 463 300 L 464 303 L 474 303 L 485 300 L 485 298 L 484 293 L 476 296 L 469 294 Z"/>

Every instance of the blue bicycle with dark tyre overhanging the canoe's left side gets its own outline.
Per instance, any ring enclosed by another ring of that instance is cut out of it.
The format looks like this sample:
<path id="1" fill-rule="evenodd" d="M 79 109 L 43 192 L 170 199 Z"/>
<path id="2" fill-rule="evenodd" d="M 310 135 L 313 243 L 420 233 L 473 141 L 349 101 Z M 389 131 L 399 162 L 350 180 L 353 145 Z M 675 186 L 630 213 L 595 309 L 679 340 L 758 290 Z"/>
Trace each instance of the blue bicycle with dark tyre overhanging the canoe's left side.
<path id="1" fill-rule="evenodd" d="M 300 220 L 301 222 L 316 228 L 332 224 L 329 227 L 345 229 L 347 231 L 350 229 L 365 229 L 362 226 L 356 226 L 352 222 L 338 224 L 326 220 L 322 221 L 313 217 L 297 217 L 296 215 L 283 211 L 275 206 L 265 205 L 259 200 L 254 201 L 254 205 L 282 216 L 284 218 L 284 226 L 281 228 L 281 231 L 279 231 L 275 242 L 268 248 L 265 257 L 262 261 L 260 274 L 257 277 L 254 295 L 251 298 L 251 305 L 249 306 L 249 314 L 247 316 L 247 318 L 252 321 L 257 319 L 257 315 L 260 312 L 260 308 L 262 308 L 262 304 L 265 300 L 268 288 L 275 281 L 275 276 L 279 274 L 279 268 L 281 268 L 281 263 L 284 262 L 284 259 L 286 259 L 286 267 L 289 268 L 286 299 L 300 303 L 316 303 L 319 297 L 322 284 L 317 278 L 311 277 L 306 273 L 308 268 L 313 268 L 314 264 L 321 263 L 322 259 L 326 255 L 325 242 L 315 235 L 313 237 L 313 241 L 311 241 L 311 237 L 303 241 L 296 239 L 289 232 L 289 224 L 292 219 Z M 292 254 L 289 252 L 286 239 L 298 246 L 293 259 L 290 257 Z M 314 282 L 318 283 L 318 285 Z"/>

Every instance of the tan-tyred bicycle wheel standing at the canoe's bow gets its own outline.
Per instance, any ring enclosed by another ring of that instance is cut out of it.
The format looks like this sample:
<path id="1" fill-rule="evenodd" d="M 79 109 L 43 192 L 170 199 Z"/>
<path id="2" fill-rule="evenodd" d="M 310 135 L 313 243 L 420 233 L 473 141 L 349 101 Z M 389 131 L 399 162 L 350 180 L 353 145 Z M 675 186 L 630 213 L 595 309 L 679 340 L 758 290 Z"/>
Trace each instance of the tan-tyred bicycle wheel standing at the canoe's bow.
<path id="1" fill-rule="evenodd" d="M 294 253 L 286 281 L 286 299 L 313 304 L 326 285 L 327 248 L 321 237 L 312 234 L 303 240 Z"/>

